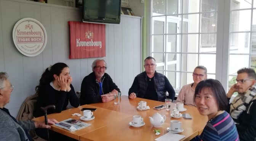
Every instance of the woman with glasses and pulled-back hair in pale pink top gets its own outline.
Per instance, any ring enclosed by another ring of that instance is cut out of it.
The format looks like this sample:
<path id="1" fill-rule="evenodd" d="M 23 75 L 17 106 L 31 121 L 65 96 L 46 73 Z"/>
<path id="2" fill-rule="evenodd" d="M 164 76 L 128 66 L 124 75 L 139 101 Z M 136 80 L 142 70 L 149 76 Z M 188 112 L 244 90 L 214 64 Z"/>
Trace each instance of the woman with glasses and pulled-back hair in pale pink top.
<path id="1" fill-rule="evenodd" d="M 182 86 L 181 90 L 179 91 L 179 95 L 176 99 L 176 102 L 182 102 L 185 105 L 195 106 L 195 103 L 194 103 L 195 87 L 200 81 L 207 79 L 206 67 L 204 66 L 195 67 L 192 76 L 193 76 L 194 83 Z"/>

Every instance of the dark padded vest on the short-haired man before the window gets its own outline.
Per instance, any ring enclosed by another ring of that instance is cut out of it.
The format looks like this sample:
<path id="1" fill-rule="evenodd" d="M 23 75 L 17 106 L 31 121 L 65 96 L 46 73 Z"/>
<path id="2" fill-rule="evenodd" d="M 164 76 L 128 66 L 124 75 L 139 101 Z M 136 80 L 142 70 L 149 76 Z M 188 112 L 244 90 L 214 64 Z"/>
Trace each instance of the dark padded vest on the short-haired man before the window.
<path id="1" fill-rule="evenodd" d="M 146 72 L 142 72 L 141 74 L 137 75 L 137 78 L 139 81 L 139 92 L 137 94 L 137 97 L 144 98 L 146 91 L 147 91 L 147 74 L 146 74 Z M 155 71 L 154 87 L 155 87 L 155 91 L 157 92 L 158 101 L 164 102 L 166 99 L 165 75 L 160 74 Z"/>

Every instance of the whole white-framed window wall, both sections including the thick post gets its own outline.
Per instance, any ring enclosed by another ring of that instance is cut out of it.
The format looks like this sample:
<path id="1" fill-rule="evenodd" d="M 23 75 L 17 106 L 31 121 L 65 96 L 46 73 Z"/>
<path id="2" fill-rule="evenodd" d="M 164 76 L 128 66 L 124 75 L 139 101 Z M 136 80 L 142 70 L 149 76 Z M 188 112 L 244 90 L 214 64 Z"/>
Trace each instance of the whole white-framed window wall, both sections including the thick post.
<path id="1" fill-rule="evenodd" d="M 198 65 L 225 89 L 238 69 L 256 69 L 256 0 L 152 0 L 151 8 L 151 55 L 174 89 L 192 83 Z"/>

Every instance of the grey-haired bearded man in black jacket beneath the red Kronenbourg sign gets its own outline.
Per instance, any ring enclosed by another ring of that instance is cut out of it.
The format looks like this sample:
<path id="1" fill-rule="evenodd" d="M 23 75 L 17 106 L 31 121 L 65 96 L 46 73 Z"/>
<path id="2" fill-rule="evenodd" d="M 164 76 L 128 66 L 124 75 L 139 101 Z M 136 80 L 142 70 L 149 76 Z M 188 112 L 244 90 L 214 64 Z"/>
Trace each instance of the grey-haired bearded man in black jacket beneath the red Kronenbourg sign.
<path id="1" fill-rule="evenodd" d="M 93 72 L 83 78 L 81 85 L 80 105 L 109 102 L 114 99 L 114 94 L 120 92 L 112 78 L 105 73 L 106 62 L 102 59 L 93 61 Z"/>

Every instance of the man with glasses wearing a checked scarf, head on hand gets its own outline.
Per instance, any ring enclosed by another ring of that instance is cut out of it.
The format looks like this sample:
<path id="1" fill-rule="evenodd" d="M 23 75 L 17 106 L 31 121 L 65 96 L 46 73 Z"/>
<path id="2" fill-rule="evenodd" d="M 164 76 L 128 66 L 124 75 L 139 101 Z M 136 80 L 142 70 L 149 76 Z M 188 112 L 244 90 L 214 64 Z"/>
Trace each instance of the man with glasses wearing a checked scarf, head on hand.
<path id="1" fill-rule="evenodd" d="M 234 92 L 238 95 L 227 106 L 227 112 L 237 123 L 240 141 L 253 141 L 256 138 L 256 73 L 251 68 L 237 71 L 235 84 L 227 92 L 227 98 Z"/>

